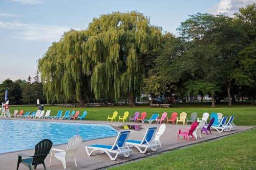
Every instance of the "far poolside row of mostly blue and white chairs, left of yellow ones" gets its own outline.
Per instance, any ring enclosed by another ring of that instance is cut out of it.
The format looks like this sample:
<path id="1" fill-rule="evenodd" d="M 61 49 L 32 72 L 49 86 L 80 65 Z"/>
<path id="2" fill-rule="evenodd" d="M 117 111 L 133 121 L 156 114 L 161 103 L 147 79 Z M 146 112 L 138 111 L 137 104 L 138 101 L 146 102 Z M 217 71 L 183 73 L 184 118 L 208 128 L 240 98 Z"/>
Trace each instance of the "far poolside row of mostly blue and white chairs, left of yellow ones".
<path id="1" fill-rule="evenodd" d="M 64 115 L 62 115 L 63 111 L 59 110 L 56 116 L 51 116 L 51 110 L 47 110 L 46 114 L 44 110 L 37 110 L 37 111 L 27 111 L 26 113 L 24 110 L 20 110 L 18 113 L 18 110 L 14 110 L 13 116 L 15 118 L 47 118 L 47 119 L 85 119 L 87 115 L 87 111 L 83 111 L 82 115 L 80 114 L 80 111 L 72 111 L 66 110 Z"/>

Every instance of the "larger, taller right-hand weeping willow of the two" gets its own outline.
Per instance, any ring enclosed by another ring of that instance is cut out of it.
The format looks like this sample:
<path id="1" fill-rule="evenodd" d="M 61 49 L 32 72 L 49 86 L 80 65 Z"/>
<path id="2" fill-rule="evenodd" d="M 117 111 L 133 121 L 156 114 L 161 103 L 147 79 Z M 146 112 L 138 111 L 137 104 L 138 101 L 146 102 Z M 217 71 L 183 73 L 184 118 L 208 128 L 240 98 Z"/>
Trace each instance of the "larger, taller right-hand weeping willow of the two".
<path id="1" fill-rule="evenodd" d="M 114 12 L 94 18 L 87 33 L 83 57 L 95 63 L 91 77 L 95 97 L 127 96 L 134 106 L 143 86 L 143 58 L 160 43 L 161 28 L 151 26 L 142 13 Z M 83 69 L 87 66 L 83 64 Z"/>

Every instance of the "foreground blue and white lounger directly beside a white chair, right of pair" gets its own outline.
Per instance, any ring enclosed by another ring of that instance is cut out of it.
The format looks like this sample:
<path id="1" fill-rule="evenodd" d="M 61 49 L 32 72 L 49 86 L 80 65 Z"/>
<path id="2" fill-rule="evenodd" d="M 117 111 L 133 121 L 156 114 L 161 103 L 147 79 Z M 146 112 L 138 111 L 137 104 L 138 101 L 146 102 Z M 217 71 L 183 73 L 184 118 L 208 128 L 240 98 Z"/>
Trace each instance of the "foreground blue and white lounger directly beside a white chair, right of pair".
<path id="1" fill-rule="evenodd" d="M 142 154 L 145 154 L 148 148 L 151 148 L 152 151 L 156 151 L 157 147 L 160 145 L 153 138 L 156 130 L 156 127 L 148 128 L 142 140 L 127 140 L 126 144 L 129 147 L 136 147 Z M 141 148 L 145 149 L 142 151 Z"/>

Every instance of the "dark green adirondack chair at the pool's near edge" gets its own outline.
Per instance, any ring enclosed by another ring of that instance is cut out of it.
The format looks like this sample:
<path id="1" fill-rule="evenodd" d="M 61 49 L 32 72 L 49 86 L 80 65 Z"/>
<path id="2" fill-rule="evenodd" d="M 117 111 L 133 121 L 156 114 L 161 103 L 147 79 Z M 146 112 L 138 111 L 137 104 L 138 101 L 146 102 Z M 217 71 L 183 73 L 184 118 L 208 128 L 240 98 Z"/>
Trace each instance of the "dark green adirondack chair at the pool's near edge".
<path id="1" fill-rule="evenodd" d="M 35 153 L 33 156 L 18 154 L 18 163 L 17 170 L 20 163 L 23 163 L 25 166 L 29 167 L 30 170 L 36 169 L 36 166 L 39 164 L 44 165 L 44 169 L 46 170 L 45 159 L 49 154 L 52 148 L 52 141 L 49 139 L 41 140 L 39 143 L 35 145 Z M 23 159 L 22 157 L 27 157 Z"/>

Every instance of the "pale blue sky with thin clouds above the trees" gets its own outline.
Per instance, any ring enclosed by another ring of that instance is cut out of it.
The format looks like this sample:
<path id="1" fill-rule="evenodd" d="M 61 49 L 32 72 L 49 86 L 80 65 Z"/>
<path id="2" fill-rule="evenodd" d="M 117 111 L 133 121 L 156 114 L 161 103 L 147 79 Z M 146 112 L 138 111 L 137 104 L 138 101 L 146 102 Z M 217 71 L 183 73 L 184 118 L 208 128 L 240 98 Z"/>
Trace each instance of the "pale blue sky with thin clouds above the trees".
<path id="1" fill-rule="evenodd" d="M 232 16 L 256 0 L 0 0 L 0 82 L 33 77 L 37 60 L 64 32 L 86 29 L 94 17 L 113 11 L 138 11 L 151 24 L 178 34 L 191 14 Z"/>

